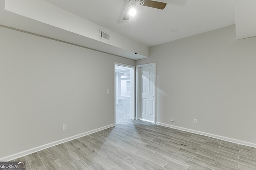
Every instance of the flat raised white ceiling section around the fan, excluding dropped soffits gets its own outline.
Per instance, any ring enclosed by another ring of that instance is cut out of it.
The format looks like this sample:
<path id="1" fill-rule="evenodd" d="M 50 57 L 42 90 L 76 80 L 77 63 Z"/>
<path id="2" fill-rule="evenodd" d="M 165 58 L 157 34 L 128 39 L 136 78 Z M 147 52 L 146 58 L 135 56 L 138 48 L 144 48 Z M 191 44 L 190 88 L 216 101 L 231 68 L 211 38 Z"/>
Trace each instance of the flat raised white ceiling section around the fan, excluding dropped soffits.
<path id="1" fill-rule="evenodd" d="M 45 0 L 86 20 L 129 37 L 124 12 L 132 2 L 122 0 Z M 137 41 L 154 46 L 235 24 L 235 0 L 158 0 L 159 10 L 137 4 Z M 172 29 L 178 29 L 172 33 Z M 131 20 L 135 40 L 135 18 Z"/>

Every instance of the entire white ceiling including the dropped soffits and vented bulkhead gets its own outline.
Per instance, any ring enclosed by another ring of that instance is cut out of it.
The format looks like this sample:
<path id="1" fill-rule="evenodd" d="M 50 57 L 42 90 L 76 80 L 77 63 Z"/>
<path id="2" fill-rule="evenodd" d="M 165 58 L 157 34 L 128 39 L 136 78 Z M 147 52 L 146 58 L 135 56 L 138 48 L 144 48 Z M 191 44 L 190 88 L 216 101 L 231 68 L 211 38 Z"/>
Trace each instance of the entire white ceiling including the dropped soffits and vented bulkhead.
<path id="1" fill-rule="evenodd" d="M 233 24 L 236 39 L 256 36 L 255 0 L 158 1 L 167 3 L 164 10 L 137 3 L 130 45 L 130 22 L 122 18 L 135 0 L 0 0 L 0 25 L 133 60 L 149 57 L 148 47 Z"/>

